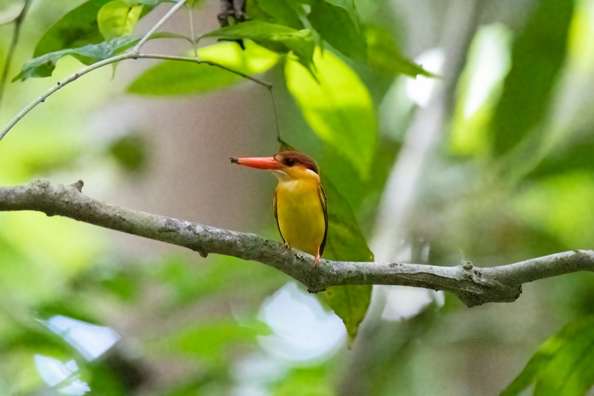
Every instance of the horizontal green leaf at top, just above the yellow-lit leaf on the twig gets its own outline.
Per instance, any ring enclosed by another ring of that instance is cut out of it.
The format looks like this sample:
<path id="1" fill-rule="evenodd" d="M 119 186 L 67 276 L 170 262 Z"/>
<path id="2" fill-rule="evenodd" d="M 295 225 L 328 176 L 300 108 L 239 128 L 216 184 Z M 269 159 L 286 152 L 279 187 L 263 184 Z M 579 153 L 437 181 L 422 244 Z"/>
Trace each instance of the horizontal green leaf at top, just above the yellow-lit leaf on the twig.
<path id="1" fill-rule="evenodd" d="M 308 69 L 315 49 L 313 35 L 308 29 L 295 30 L 264 21 L 248 21 L 222 27 L 204 34 L 203 37 L 220 37 L 226 40 L 251 39 L 275 52 L 293 51 L 299 62 Z"/>

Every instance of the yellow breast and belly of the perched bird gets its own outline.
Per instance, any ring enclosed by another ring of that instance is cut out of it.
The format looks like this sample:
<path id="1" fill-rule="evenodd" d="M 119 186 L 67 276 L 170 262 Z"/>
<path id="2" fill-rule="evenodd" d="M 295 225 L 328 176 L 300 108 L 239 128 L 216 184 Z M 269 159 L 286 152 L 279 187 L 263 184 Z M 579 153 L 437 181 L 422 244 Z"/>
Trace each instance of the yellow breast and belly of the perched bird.
<path id="1" fill-rule="evenodd" d="M 276 188 L 280 233 L 294 248 L 316 255 L 326 232 L 323 202 L 313 179 L 281 181 Z"/>

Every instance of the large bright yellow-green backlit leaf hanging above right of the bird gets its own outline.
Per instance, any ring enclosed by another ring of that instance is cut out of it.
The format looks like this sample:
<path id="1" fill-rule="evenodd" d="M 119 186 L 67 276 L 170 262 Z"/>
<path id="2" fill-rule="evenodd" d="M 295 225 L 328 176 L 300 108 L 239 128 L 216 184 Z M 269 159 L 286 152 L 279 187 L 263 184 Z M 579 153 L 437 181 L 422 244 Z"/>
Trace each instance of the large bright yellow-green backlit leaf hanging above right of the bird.
<path id="1" fill-rule="evenodd" d="M 317 81 L 294 59 L 287 59 L 287 87 L 314 132 L 366 176 L 377 144 L 369 91 L 358 75 L 330 51 L 317 50 L 314 64 Z"/>

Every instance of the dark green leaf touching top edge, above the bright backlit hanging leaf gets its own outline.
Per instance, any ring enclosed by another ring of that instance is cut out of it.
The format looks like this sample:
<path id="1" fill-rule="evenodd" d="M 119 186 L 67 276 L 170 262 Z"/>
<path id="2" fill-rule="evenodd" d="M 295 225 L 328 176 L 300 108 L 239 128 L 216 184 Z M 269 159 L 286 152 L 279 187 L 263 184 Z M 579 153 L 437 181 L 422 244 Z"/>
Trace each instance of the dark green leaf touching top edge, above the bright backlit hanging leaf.
<path id="1" fill-rule="evenodd" d="M 352 4 L 352 1 L 338 3 Z M 313 0 L 308 19 L 322 39 L 346 56 L 366 57 L 365 36 L 354 12 L 354 5 L 338 6 L 332 5 L 329 1 Z"/>

